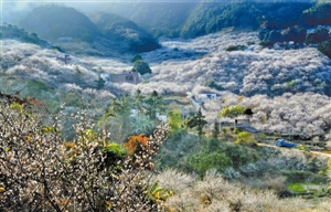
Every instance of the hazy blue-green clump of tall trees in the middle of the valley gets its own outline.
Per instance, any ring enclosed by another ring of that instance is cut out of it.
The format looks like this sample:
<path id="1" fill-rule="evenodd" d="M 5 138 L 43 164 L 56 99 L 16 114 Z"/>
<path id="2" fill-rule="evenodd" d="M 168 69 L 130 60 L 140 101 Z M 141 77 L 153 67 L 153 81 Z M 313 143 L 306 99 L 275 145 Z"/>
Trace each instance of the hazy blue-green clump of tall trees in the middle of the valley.
<path id="1" fill-rule="evenodd" d="M 135 95 L 126 93 L 113 98 L 98 125 L 109 131 L 114 140 L 122 142 L 129 135 L 151 132 L 161 123 L 157 114 L 163 114 L 166 108 L 163 98 L 156 92 L 145 96 L 138 89 Z"/>

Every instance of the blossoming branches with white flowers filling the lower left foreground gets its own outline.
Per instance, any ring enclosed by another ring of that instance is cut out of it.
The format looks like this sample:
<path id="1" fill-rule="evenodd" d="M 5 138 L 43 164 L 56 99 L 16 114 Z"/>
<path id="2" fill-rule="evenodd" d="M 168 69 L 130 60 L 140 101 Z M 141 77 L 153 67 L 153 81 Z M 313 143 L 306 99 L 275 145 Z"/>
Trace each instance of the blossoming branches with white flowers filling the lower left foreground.
<path id="1" fill-rule="evenodd" d="M 58 117 L 41 115 L 41 105 L 17 113 L 0 104 L 0 208 L 4 211 L 151 211 L 147 184 L 152 157 L 167 137 L 158 128 L 145 149 L 126 155 L 92 129 L 87 112 L 79 112 L 73 141 L 56 132 Z M 45 119 L 46 118 L 46 119 Z M 51 121 L 55 131 L 42 130 Z M 139 150 L 138 150 L 139 149 Z M 141 152 L 142 151 L 142 152 Z"/>

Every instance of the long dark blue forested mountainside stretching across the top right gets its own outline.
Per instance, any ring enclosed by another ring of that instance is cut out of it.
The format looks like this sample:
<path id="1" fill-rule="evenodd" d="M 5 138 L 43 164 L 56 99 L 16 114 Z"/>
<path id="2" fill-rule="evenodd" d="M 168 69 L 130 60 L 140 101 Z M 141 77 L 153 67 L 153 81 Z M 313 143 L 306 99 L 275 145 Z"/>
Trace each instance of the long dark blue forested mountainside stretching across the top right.
<path id="1" fill-rule="evenodd" d="M 104 10 L 136 22 L 154 38 L 188 39 L 229 28 L 258 30 L 264 24 L 273 30 L 331 24 L 331 2 L 323 0 L 111 2 Z"/>

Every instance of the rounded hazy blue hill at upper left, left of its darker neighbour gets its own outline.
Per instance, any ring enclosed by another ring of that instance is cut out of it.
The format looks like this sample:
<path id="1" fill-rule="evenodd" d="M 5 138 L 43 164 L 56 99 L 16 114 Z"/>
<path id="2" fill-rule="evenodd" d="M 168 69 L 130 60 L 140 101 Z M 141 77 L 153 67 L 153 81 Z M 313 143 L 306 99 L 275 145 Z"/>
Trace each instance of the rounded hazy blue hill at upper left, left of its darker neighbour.
<path id="1" fill-rule="evenodd" d="M 95 24 L 85 14 L 73 8 L 54 4 L 34 8 L 19 25 L 50 41 L 63 36 L 90 41 L 99 34 Z"/>

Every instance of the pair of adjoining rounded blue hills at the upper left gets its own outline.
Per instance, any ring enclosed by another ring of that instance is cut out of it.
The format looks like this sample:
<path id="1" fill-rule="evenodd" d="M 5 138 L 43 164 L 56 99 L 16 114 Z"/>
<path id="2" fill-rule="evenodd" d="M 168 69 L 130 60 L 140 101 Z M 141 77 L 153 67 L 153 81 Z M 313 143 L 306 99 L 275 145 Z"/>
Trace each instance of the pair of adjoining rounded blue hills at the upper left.
<path id="1" fill-rule="evenodd" d="M 120 46 L 122 51 L 131 52 L 152 51 L 159 46 L 149 33 L 125 18 L 102 13 L 94 21 L 73 8 L 46 4 L 33 9 L 19 26 L 51 42 L 63 38 L 87 43 L 107 40 L 108 43 L 121 42 L 114 44 L 115 49 Z"/>

